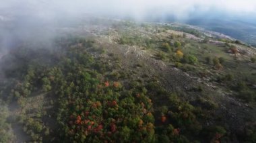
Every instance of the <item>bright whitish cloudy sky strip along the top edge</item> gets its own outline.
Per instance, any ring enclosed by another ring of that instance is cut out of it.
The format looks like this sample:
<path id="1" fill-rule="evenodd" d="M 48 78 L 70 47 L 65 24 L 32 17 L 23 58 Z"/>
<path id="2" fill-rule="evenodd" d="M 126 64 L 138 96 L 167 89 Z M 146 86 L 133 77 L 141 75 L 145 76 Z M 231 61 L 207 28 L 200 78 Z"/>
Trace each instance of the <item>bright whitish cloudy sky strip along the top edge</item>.
<path id="1" fill-rule="evenodd" d="M 229 15 L 256 13 L 256 0 L 0 0 L 0 3 L 0 9 L 15 7 L 18 10 L 21 7 L 30 7 L 40 14 L 59 11 L 74 14 L 91 12 L 131 15 L 137 19 L 149 13 L 172 14 L 178 18 L 187 18 L 191 16 L 189 13 L 208 11 L 221 11 Z"/>

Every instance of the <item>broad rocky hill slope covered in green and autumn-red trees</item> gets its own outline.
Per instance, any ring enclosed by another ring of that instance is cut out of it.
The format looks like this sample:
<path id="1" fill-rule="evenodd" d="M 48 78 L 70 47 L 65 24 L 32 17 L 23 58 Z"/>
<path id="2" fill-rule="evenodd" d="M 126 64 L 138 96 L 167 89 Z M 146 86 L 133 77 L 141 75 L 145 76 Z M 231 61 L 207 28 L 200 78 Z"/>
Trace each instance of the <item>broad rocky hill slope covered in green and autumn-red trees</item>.
<path id="1" fill-rule="evenodd" d="M 1 58 L 6 140 L 255 142 L 255 48 L 174 23 L 56 31 Z"/>

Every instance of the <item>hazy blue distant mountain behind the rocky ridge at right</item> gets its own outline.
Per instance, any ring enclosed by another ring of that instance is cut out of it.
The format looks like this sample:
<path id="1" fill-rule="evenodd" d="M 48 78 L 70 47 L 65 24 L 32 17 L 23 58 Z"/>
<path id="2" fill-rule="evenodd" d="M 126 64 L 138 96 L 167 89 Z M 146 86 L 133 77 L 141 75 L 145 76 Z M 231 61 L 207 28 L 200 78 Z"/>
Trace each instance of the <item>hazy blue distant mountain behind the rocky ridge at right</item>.
<path id="1" fill-rule="evenodd" d="M 225 13 L 223 11 L 192 11 L 179 17 L 173 13 L 148 16 L 149 21 L 178 21 L 214 32 L 226 34 L 247 44 L 256 45 L 256 16 L 248 13 Z"/>

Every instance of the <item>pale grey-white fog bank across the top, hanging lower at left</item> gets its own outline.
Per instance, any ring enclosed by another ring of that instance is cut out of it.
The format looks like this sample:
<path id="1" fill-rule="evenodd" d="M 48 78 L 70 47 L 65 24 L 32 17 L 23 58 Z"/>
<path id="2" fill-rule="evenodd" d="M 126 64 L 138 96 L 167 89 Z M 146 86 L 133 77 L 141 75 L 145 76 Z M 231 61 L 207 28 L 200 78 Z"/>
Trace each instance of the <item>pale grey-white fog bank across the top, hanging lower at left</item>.
<path id="1" fill-rule="evenodd" d="M 51 38 L 58 26 L 57 21 L 70 21 L 70 17 L 97 15 L 137 21 L 232 17 L 254 21 L 251 17 L 256 13 L 255 0 L 1 0 L 0 3 L 2 53 L 17 41 L 38 36 Z"/>

